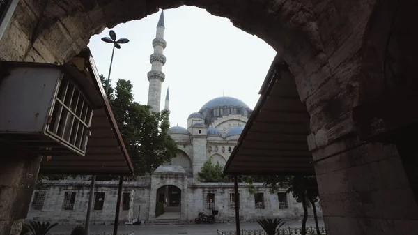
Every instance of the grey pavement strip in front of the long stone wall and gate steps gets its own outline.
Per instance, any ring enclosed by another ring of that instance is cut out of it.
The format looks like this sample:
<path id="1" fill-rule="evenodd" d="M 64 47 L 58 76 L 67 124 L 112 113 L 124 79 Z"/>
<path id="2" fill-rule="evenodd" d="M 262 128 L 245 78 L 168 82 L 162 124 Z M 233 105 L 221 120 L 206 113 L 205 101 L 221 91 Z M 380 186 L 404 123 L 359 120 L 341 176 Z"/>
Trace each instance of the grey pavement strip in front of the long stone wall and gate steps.
<path id="1" fill-rule="evenodd" d="M 282 228 L 286 227 L 300 227 L 301 221 L 290 220 Z M 314 220 L 307 221 L 307 227 L 315 226 Z M 323 220 L 319 220 L 319 226 L 324 226 Z M 70 234 L 75 225 L 59 225 L 54 227 L 50 234 Z M 241 229 L 261 229 L 256 222 L 243 222 L 240 224 Z M 134 235 L 169 235 L 169 234 L 187 234 L 187 235 L 217 235 L 217 230 L 231 231 L 235 230 L 233 223 L 215 223 L 212 225 L 120 225 L 118 234 Z M 93 225 L 90 228 L 91 234 L 111 234 L 113 232 L 113 225 Z"/>

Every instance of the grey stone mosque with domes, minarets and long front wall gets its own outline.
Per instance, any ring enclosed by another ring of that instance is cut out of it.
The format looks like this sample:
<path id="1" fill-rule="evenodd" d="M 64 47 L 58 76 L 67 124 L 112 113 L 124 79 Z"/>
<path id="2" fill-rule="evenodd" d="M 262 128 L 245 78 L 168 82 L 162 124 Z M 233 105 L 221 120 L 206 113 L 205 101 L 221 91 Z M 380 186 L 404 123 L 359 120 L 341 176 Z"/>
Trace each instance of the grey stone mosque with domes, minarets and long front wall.
<path id="1" fill-rule="evenodd" d="M 150 56 L 148 73 L 148 105 L 160 111 L 162 67 L 166 62 L 163 52 L 164 13 L 157 23 L 154 53 Z M 169 109 L 169 91 L 165 98 Z M 170 164 L 158 167 L 150 176 L 123 183 L 120 220 L 125 220 L 130 209 L 130 197 L 134 190 L 134 218 L 144 222 L 171 220 L 194 221 L 199 211 L 210 213 L 217 209 L 218 222 L 235 220 L 235 195 L 233 183 L 203 183 L 198 172 L 207 160 L 224 165 L 247 123 L 251 109 L 242 100 L 218 97 L 209 100 L 197 112 L 187 118 L 187 127 L 172 126 L 169 135 L 178 144 L 178 154 Z M 46 188 L 33 193 L 28 219 L 77 224 L 84 222 L 88 204 L 87 180 L 47 181 Z M 256 183 L 257 192 L 250 194 L 247 185 L 239 184 L 240 220 L 259 218 L 301 218 L 302 204 L 295 202 L 285 190 L 270 193 L 262 183 Z M 114 222 L 118 184 L 114 181 L 96 182 L 91 221 L 96 224 Z M 164 205 L 164 213 L 158 213 L 157 205 Z M 318 215 L 322 214 L 317 206 Z M 311 209 L 309 209 L 311 210 Z M 312 215 L 311 211 L 309 213 Z"/>

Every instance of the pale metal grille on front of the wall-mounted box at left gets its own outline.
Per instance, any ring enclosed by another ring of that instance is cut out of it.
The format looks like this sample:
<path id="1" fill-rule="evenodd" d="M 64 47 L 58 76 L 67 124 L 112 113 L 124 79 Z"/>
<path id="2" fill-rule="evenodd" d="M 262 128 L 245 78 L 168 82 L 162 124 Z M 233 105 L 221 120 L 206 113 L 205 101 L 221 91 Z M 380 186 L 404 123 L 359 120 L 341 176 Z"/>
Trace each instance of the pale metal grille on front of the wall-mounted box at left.
<path id="1" fill-rule="evenodd" d="M 57 89 L 46 132 L 84 155 L 93 109 L 67 77 L 60 80 Z"/>

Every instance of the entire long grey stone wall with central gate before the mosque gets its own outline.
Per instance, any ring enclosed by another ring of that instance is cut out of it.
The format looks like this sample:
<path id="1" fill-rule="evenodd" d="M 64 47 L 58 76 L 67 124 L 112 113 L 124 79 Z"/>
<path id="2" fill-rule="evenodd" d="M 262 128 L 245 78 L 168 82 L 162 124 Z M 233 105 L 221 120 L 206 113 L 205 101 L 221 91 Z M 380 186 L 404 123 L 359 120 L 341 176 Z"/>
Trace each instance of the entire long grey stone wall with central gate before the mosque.
<path id="1" fill-rule="evenodd" d="M 163 179 L 161 179 L 161 176 Z M 204 208 L 204 193 L 215 193 L 215 209 L 219 210 L 216 216 L 219 222 L 235 220 L 235 211 L 230 206 L 229 194 L 233 193 L 233 183 L 186 183 L 181 176 L 157 174 L 151 182 L 124 182 L 123 192 L 130 193 L 135 190 L 134 218 L 139 220 L 155 220 L 156 192 L 164 185 L 175 185 L 182 190 L 181 213 L 183 221 L 194 221 L 199 211 L 211 213 Z M 188 186 L 185 186 L 188 185 Z M 86 210 L 89 195 L 89 181 L 46 181 L 46 188 L 35 190 L 47 192 L 44 206 L 40 210 L 32 208 L 26 219 L 60 224 L 82 224 L 86 220 Z M 254 195 L 249 194 L 246 185 L 240 183 L 240 219 L 251 221 L 259 218 L 286 218 L 297 219 L 303 216 L 302 204 L 297 203 L 292 195 L 287 195 L 288 209 L 279 209 L 277 194 L 270 194 L 261 183 L 256 183 L 258 192 L 264 194 L 265 209 L 255 209 Z M 151 192 L 151 189 L 155 191 Z M 63 209 L 65 192 L 76 192 L 75 205 L 72 210 Z M 93 210 L 92 224 L 112 224 L 116 211 L 118 182 L 96 182 L 95 192 L 104 192 L 102 210 Z M 123 203 L 123 202 L 121 202 Z M 185 205 L 185 206 L 183 206 Z M 320 206 L 317 207 L 318 216 L 321 216 Z M 313 212 L 309 209 L 309 215 Z M 121 208 L 120 221 L 125 222 L 127 210 Z"/>

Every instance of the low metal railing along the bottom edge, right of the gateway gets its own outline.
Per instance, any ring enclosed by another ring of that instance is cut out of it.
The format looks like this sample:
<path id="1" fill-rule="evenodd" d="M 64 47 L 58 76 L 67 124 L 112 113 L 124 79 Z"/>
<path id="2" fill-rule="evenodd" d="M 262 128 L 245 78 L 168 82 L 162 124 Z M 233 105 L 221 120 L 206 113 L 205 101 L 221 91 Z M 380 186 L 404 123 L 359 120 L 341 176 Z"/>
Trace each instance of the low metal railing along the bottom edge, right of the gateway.
<path id="1" fill-rule="evenodd" d="M 277 229 L 275 235 L 297 235 L 301 234 L 302 228 L 288 227 L 287 229 Z M 325 227 L 319 227 L 320 234 L 327 234 Z M 236 235 L 236 231 L 220 231 L 217 230 L 218 235 Z M 307 227 L 307 235 L 316 234 L 316 227 Z M 267 235 L 262 229 L 241 229 L 240 235 Z"/>

